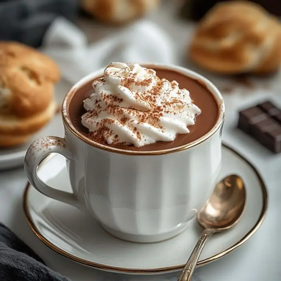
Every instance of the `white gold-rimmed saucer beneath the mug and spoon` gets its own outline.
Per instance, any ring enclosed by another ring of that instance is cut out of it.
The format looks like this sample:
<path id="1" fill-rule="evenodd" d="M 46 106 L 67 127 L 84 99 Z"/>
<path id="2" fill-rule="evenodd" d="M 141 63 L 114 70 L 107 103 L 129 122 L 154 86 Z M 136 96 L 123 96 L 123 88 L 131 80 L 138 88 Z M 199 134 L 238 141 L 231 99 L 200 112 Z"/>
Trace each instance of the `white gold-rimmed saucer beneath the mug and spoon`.
<path id="1" fill-rule="evenodd" d="M 246 159 L 224 146 L 220 177 L 233 173 L 245 182 L 244 216 L 235 227 L 215 234 L 208 241 L 197 266 L 237 249 L 255 233 L 265 217 L 267 192 L 261 177 Z M 70 190 L 65 159 L 61 155 L 46 158 L 39 167 L 39 176 L 53 187 Z M 176 238 L 155 244 L 135 244 L 112 237 L 96 220 L 42 195 L 30 185 L 23 205 L 31 229 L 47 246 L 73 261 L 112 272 L 161 274 L 177 271 L 187 261 L 201 232 L 194 220 Z"/>

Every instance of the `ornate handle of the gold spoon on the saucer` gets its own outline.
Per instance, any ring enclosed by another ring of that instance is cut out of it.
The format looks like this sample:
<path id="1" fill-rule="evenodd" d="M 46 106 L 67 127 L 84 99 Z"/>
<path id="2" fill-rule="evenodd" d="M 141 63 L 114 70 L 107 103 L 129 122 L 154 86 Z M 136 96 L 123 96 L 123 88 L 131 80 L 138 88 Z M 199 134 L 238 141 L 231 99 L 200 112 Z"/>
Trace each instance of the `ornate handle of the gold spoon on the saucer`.
<path id="1" fill-rule="evenodd" d="M 215 233 L 215 229 L 204 229 L 196 246 L 194 247 L 185 267 L 183 268 L 183 271 L 178 279 L 178 281 L 190 281 L 191 276 L 194 272 L 195 266 L 197 264 L 197 261 L 199 259 L 199 256 L 203 250 L 203 247 L 205 246 L 205 243 L 207 240 L 212 236 L 212 234 Z"/>

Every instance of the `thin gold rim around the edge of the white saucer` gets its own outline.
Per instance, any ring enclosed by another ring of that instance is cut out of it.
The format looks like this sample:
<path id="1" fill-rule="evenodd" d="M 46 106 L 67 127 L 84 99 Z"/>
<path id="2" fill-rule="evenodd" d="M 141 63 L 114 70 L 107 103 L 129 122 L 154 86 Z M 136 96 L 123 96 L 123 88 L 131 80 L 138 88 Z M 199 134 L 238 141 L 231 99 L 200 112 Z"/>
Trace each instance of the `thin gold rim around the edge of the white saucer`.
<path id="1" fill-rule="evenodd" d="M 219 254 L 216 254 L 210 258 L 206 258 L 202 261 L 199 261 L 196 265 L 196 267 L 200 267 L 202 265 L 206 265 L 212 261 L 218 260 L 219 258 L 224 257 L 225 255 L 229 254 L 230 252 L 236 250 L 238 247 L 240 247 L 242 244 L 244 244 L 247 240 L 249 240 L 252 235 L 258 230 L 258 228 L 261 226 L 262 222 L 265 219 L 265 215 L 266 215 L 266 211 L 267 211 L 267 207 L 268 207 L 268 195 L 267 195 L 267 190 L 265 187 L 265 183 L 262 180 L 260 174 L 258 173 L 257 169 L 247 160 L 245 159 L 242 155 L 240 155 L 237 151 L 235 151 L 234 149 L 230 148 L 229 146 L 223 144 L 223 147 L 229 149 L 230 151 L 232 151 L 235 155 L 239 156 L 241 159 L 243 159 L 244 162 L 246 162 L 251 169 L 254 171 L 254 173 L 256 174 L 258 181 L 261 185 L 261 191 L 262 191 L 262 210 L 260 213 L 260 216 L 258 218 L 258 221 L 256 222 L 256 224 L 253 226 L 253 228 L 237 243 L 235 243 L 233 246 L 229 247 L 228 249 L 226 249 L 225 251 L 220 252 Z M 48 158 L 48 157 L 47 157 Z M 46 159 L 47 159 L 46 158 Z M 55 246 L 54 244 L 52 244 L 50 241 L 48 241 L 43 235 L 41 235 L 41 233 L 39 233 L 37 227 L 34 225 L 34 222 L 31 219 L 30 213 L 28 211 L 28 203 L 27 203 L 27 195 L 28 195 L 28 191 L 30 190 L 30 183 L 27 184 L 25 191 L 24 191 L 24 195 L 23 195 L 23 211 L 24 214 L 27 218 L 27 222 L 30 226 L 30 228 L 32 229 L 32 231 L 35 233 L 35 235 L 44 243 L 46 244 L 49 248 L 51 248 L 53 251 L 65 256 L 66 258 L 69 258 L 73 261 L 76 261 L 82 265 L 87 265 L 96 269 L 101 269 L 101 270 L 105 270 L 105 271 L 111 271 L 111 272 L 120 272 L 120 273 L 140 273 L 140 274 L 150 274 L 150 273 L 165 273 L 165 272 L 171 272 L 171 271 L 176 271 L 176 270 L 181 270 L 183 269 L 183 267 L 185 266 L 185 264 L 182 265 L 174 265 L 174 266 L 168 266 L 168 267 L 162 267 L 162 268 L 155 268 L 155 269 L 129 269 L 129 268 L 122 268 L 122 267 L 114 267 L 114 266 L 108 266 L 108 265 L 102 265 L 96 262 L 92 262 L 92 261 L 87 261 L 85 259 L 82 258 L 77 258 L 76 256 L 67 253 L 66 251 L 61 250 L 59 247 Z M 117 238 L 116 238 L 117 239 Z"/>

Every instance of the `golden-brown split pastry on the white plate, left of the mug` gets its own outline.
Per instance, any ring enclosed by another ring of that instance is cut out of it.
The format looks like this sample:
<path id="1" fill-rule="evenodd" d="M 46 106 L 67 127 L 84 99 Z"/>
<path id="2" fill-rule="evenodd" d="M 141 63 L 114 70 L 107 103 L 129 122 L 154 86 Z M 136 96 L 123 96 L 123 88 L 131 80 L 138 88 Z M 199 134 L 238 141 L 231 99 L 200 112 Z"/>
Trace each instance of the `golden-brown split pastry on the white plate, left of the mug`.
<path id="1" fill-rule="evenodd" d="M 58 66 L 34 48 L 0 41 L 0 146 L 22 144 L 55 114 Z"/>

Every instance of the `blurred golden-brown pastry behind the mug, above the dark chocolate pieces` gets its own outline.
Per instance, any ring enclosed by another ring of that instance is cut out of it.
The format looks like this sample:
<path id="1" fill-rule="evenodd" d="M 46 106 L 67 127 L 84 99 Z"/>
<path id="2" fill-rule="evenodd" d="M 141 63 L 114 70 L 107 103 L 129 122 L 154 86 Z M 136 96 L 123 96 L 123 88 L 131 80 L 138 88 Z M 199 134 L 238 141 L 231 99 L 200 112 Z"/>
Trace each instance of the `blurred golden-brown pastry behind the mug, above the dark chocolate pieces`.
<path id="1" fill-rule="evenodd" d="M 281 25 L 253 2 L 221 2 L 199 23 L 189 55 L 218 73 L 271 73 L 281 63 Z"/>

